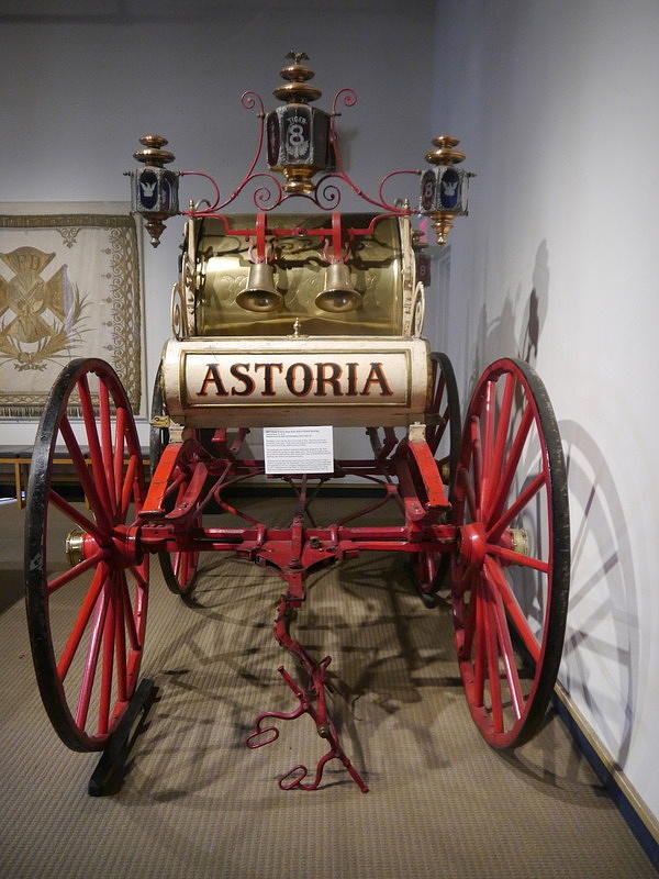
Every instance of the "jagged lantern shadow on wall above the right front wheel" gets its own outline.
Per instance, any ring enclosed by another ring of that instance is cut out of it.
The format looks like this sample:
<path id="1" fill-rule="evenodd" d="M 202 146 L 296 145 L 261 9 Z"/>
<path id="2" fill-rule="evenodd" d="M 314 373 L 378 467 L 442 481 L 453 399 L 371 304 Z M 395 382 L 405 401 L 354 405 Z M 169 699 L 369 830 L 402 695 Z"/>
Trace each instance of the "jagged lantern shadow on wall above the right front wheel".
<path id="1" fill-rule="evenodd" d="M 536 251 L 530 292 L 522 305 L 522 288 L 517 288 L 514 300 L 506 296 L 501 314 L 488 321 L 488 305 L 483 303 L 479 316 L 476 352 L 469 379 L 473 388 L 482 370 L 500 357 L 518 357 L 535 366 L 543 324 L 547 318 L 549 301 L 549 249 L 543 238 Z M 522 331 L 515 330 L 521 316 Z"/>

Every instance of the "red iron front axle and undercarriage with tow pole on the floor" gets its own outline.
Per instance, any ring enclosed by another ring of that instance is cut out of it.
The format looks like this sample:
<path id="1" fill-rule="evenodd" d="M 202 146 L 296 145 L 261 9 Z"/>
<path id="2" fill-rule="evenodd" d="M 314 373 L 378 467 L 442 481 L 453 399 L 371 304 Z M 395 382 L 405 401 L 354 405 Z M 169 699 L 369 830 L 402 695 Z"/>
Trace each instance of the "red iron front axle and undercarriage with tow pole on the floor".
<path id="1" fill-rule="evenodd" d="M 298 698 L 299 705 L 290 713 L 261 712 L 247 737 L 247 745 L 257 748 L 276 741 L 279 732 L 276 726 L 266 724 L 267 721 L 295 720 L 309 714 L 319 735 L 327 741 L 328 750 L 319 760 L 312 776 L 306 767 L 299 764 L 279 780 L 280 787 L 286 790 L 315 790 L 322 783 L 327 763 L 336 759 L 359 789 L 366 792 L 368 788 L 343 749 L 327 712 L 326 693 L 331 686 L 326 670 L 330 657 L 316 663 L 291 635 L 290 625 L 295 612 L 304 604 L 304 577 L 312 567 L 334 564 L 367 549 L 429 554 L 448 553 L 455 548 L 455 528 L 435 521 L 437 511 L 449 507 L 437 464 L 425 442 L 406 441 L 399 444 L 396 455 L 392 458 L 381 458 L 379 461 L 337 460 L 334 475 L 358 474 L 380 486 L 383 497 L 325 527 L 304 526 L 312 477 L 287 477 L 297 493 L 295 513 L 289 527 L 273 528 L 258 522 L 223 497 L 230 487 L 265 471 L 263 461 L 243 460 L 235 456 L 245 434 L 246 431 L 237 432 L 228 446 L 226 432 L 216 432 L 214 442 L 217 450 L 233 449 L 231 457 L 210 455 L 194 438 L 182 444 L 171 444 L 164 449 L 138 518 L 141 546 L 145 552 L 166 552 L 178 554 L 182 558 L 196 557 L 199 552 L 210 549 L 231 552 L 279 571 L 287 590 L 277 608 L 275 637 L 291 653 L 308 682 L 304 686 L 298 685 L 280 667 L 280 674 Z M 390 434 L 389 445 L 392 442 Z M 407 478 L 411 472 L 415 476 Z M 182 478 L 179 478 L 181 474 Z M 394 475 L 399 477 L 399 485 L 392 481 Z M 321 475 L 317 481 L 322 483 L 327 478 Z M 177 500 L 174 509 L 166 512 L 167 498 L 175 489 Z M 405 512 L 402 526 L 347 524 L 392 500 Z M 211 501 L 242 518 L 246 525 L 201 526 L 203 510 Z M 185 571 L 182 576 L 185 578 Z"/>

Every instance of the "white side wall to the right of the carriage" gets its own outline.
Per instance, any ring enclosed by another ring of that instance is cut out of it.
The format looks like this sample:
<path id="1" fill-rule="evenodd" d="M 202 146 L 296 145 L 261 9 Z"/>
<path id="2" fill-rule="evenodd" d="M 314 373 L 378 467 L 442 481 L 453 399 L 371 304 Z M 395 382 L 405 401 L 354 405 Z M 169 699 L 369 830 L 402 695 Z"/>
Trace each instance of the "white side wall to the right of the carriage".
<path id="1" fill-rule="evenodd" d="M 479 175 L 443 343 L 466 392 L 525 353 L 535 290 L 571 493 L 561 679 L 657 815 L 659 4 L 443 0 L 435 43 L 433 123 Z"/>

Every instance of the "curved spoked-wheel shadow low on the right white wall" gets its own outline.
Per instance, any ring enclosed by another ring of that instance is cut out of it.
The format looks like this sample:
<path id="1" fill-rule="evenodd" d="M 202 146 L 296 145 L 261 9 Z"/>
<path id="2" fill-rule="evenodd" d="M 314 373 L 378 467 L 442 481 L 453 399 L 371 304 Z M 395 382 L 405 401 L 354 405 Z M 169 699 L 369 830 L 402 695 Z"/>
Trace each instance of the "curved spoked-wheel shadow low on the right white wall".
<path id="1" fill-rule="evenodd" d="M 571 698 L 587 706 L 603 744 L 624 767 L 638 680 L 638 605 L 629 531 L 594 438 L 574 421 L 561 421 L 559 427 L 572 520 L 571 592 L 560 678 Z"/>

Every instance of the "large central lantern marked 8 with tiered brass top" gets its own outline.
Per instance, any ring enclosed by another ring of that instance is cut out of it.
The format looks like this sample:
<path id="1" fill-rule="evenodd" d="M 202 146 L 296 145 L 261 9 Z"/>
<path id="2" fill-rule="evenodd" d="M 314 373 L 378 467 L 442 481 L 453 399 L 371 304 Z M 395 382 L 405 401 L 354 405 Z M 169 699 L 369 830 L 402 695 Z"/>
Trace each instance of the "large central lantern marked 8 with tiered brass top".
<path id="1" fill-rule="evenodd" d="M 313 192 L 312 177 L 331 168 L 330 114 L 309 107 L 322 92 L 310 86 L 313 70 L 302 64 L 309 60 L 303 52 L 289 52 L 290 65 L 280 71 L 284 86 L 272 92 L 286 101 L 266 116 L 268 164 L 286 178 L 284 191 L 293 196 Z"/>

